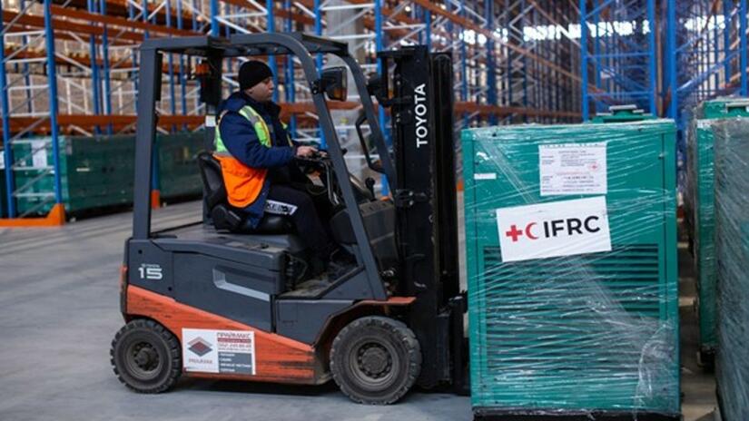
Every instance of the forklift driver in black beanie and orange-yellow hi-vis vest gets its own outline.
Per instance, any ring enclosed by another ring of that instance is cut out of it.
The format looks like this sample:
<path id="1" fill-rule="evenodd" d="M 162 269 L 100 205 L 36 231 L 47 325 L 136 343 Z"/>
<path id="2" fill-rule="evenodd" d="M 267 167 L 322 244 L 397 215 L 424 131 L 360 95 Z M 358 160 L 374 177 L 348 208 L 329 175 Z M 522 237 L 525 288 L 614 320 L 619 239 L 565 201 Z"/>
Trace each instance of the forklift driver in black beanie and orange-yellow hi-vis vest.
<path id="1" fill-rule="evenodd" d="M 240 90 L 220 106 L 214 155 L 221 162 L 232 206 L 244 210 L 252 227 L 265 212 L 288 215 L 319 266 L 336 249 L 304 185 L 310 181 L 292 161 L 318 150 L 291 140 L 281 107 L 271 101 L 273 74 L 259 61 L 241 64 Z M 300 189 L 301 187 L 301 189 Z"/>

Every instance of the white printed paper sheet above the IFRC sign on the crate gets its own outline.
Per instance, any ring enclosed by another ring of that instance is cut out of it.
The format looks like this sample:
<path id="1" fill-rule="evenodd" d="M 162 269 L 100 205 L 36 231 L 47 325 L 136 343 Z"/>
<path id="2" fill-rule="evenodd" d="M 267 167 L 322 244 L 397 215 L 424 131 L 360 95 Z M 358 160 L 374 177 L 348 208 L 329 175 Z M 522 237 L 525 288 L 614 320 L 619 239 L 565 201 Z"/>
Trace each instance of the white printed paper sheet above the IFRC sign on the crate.
<path id="1" fill-rule="evenodd" d="M 538 145 L 541 196 L 606 194 L 606 142 Z"/>

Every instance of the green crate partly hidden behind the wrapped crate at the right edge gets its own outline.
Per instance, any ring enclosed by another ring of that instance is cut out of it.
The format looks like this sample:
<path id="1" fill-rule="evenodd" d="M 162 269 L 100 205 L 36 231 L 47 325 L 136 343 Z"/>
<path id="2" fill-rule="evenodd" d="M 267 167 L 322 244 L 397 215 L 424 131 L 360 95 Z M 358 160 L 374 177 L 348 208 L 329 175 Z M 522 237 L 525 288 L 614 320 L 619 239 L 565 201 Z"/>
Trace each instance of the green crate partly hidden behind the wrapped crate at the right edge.
<path id="1" fill-rule="evenodd" d="M 700 353 L 706 364 L 717 345 L 715 309 L 715 122 L 749 117 L 749 100 L 718 98 L 701 103 L 687 134 L 685 223 L 693 241 L 697 276 Z M 746 121 L 749 124 L 749 120 Z"/>

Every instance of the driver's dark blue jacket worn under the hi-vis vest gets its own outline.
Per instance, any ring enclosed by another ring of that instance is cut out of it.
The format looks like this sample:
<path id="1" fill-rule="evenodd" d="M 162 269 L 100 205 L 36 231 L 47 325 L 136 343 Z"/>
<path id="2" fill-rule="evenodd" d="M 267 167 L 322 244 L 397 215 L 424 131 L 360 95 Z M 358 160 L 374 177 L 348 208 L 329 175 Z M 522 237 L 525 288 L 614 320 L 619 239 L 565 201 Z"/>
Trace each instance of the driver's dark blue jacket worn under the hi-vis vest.
<path id="1" fill-rule="evenodd" d="M 254 127 L 239 111 L 250 105 L 262 119 L 272 126 L 273 139 L 270 148 L 261 144 Z M 275 169 L 291 162 L 296 153 L 296 142 L 293 147 L 287 141 L 287 132 L 281 124 L 279 113 L 281 107 L 276 103 L 258 103 L 242 92 L 232 93 L 219 107 L 219 113 L 227 111 L 219 122 L 222 142 L 234 158 L 251 168 Z M 252 226 L 257 226 L 265 209 L 268 190 L 271 186 L 269 177 L 265 178 L 258 198 L 244 208 Z"/>

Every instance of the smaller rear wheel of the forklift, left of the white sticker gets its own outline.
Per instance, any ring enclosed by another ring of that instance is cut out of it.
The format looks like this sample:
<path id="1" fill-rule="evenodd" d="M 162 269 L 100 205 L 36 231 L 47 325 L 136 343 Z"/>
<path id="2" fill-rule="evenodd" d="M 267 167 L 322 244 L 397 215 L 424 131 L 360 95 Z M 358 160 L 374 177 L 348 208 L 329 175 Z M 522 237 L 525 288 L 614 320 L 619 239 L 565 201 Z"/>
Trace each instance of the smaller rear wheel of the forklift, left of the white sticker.
<path id="1" fill-rule="evenodd" d="M 182 349 L 172 332 L 153 320 L 126 324 L 112 341 L 117 378 L 139 393 L 162 393 L 182 375 Z"/>

